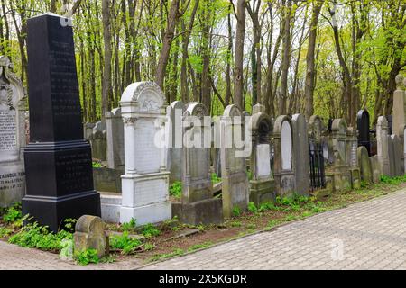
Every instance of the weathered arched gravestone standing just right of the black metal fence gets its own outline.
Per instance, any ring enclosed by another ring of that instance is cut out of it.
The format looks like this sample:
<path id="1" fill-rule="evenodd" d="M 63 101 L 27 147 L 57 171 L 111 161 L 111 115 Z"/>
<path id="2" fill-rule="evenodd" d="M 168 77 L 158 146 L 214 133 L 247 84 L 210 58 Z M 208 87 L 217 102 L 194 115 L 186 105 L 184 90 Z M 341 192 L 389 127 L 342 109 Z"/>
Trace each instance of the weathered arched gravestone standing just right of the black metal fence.
<path id="1" fill-rule="evenodd" d="M 335 119 L 331 126 L 334 152 L 334 185 L 336 190 L 351 189 L 347 126 L 344 119 Z"/>

